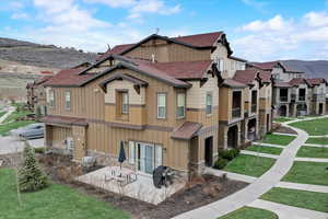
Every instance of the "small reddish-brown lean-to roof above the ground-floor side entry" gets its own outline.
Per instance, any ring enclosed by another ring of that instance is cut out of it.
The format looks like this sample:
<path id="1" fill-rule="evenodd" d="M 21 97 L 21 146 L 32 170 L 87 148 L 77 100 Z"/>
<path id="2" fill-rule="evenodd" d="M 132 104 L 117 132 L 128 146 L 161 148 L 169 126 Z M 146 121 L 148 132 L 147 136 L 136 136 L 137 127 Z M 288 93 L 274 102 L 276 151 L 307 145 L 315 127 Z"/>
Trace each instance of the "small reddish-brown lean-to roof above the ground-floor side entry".
<path id="1" fill-rule="evenodd" d="M 185 122 L 173 131 L 171 137 L 179 140 L 190 140 L 201 127 L 202 125 L 199 123 Z"/>

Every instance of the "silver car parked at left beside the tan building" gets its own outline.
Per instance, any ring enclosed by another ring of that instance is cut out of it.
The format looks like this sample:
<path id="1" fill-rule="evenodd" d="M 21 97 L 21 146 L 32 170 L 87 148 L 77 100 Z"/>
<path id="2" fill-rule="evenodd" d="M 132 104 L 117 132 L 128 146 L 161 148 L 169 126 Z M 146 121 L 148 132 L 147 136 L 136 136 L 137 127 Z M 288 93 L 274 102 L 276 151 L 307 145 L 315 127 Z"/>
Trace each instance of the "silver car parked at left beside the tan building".
<path id="1" fill-rule="evenodd" d="M 45 124 L 43 123 L 31 124 L 28 126 L 15 130 L 11 130 L 10 135 L 24 138 L 24 139 L 44 138 Z"/>

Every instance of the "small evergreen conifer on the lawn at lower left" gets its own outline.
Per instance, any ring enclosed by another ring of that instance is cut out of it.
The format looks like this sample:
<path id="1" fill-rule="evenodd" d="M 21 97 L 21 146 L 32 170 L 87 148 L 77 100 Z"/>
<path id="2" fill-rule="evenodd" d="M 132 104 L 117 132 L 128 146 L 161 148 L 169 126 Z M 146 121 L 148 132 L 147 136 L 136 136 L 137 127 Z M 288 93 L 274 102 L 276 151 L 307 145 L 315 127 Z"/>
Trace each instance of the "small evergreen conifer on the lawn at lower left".
<path id="1" fill-rule="evenodd" d="M 24 163 L 19 171 L 19 184 L 21 192 L 35 192 L 48 186 L 48 177 L 38 165 L 34 149 L 25 143 Z"/>

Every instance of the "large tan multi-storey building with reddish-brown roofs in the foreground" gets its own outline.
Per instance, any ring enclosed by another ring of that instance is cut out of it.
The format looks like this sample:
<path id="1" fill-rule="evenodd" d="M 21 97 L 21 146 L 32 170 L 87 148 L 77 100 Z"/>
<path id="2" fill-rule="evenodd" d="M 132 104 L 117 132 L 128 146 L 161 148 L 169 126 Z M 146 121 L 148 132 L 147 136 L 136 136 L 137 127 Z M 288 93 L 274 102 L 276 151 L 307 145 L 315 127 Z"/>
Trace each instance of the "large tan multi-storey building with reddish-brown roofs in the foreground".
<path id="1" fill-rule="evenodd" d="M 46 146 L 115 165 L 122 142 L 126 165 L 138 172 L 162 164 L 201 172 L 219 149 L 271 128 L 270 74 L 246 70 L 246 60 L 231 55 L 223 32 L 154 34 L 61 71 L 44 84 Z"/>

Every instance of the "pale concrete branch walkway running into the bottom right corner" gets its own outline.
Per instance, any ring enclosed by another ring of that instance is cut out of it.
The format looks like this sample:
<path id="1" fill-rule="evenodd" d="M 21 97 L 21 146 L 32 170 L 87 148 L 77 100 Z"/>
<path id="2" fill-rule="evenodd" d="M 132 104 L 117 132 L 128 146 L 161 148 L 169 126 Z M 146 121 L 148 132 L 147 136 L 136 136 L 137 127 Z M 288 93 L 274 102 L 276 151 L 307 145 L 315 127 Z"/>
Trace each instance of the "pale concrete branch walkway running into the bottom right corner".
<path id="1" fill-rule="evenodd" d="M 279 219 L 327 219 L 328 214 L 308 210 L 304 208 L 296 208 L 288 205 L 281 205 L 278 203 L 271 203 L 267 200 L 257 199 L 247 205 L 254 208 L 261 208 L 270 210 L 278 215 Z"/>

